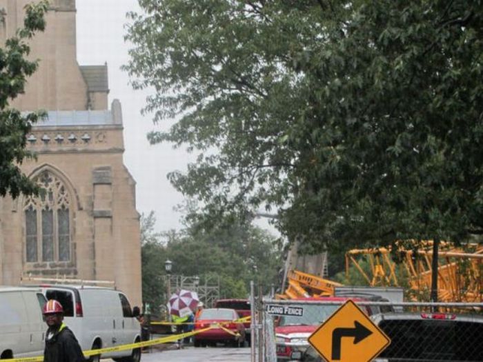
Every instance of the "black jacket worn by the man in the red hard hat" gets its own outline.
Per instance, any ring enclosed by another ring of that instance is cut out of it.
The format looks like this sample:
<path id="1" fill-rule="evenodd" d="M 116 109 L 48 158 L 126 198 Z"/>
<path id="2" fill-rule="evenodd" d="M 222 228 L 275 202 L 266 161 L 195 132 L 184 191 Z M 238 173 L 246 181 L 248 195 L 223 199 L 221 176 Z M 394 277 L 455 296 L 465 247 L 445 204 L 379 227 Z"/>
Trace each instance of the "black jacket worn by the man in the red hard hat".
<path id="1" fill-rule="evenodd" d="M 74 333 L 62 323 L 54 336 L 48 338 L 46 334 L 46 348 L 43 350 L 43 362 L 85 362 L 81 346 Z"/>

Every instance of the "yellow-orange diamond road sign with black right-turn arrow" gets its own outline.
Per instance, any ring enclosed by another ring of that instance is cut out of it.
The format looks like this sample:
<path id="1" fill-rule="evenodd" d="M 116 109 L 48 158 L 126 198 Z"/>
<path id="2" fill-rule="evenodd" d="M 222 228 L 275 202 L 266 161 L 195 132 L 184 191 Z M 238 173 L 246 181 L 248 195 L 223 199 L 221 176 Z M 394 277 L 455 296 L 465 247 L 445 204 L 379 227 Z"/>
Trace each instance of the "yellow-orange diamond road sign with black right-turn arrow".
<path id="1" fill-rule="evenodd" d="M 308 337 L 308 342 L 327 362 L 369 362 L 391 339 L 349 300 Z"/>

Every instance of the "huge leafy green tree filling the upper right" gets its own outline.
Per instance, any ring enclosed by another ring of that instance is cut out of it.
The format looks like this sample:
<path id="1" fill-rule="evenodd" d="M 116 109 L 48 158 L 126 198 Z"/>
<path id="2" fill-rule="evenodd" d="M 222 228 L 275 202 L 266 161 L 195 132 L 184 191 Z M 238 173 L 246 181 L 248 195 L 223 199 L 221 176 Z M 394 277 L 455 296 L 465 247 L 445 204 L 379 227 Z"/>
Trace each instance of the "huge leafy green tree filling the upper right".
<path id="1" fill-rule="evenodd" d="M 264 206 L 308 250 L 482 232 L 481 0 L 139 3 L 125 68 L 205 220 Z"/>

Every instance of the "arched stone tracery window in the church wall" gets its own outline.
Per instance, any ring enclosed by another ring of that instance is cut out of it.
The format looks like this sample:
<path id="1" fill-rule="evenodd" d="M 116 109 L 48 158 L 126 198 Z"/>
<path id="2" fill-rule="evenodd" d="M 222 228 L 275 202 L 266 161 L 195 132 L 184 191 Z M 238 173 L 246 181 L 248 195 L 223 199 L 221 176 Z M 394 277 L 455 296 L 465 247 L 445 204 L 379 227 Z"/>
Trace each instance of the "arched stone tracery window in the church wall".
<path id="1" fill-rule="evenodd" d="M 23 204 L 26 262 L 70 261 L 70 196 L 62 181 L 42 171 L 36 181 L 46 192 Z"/>

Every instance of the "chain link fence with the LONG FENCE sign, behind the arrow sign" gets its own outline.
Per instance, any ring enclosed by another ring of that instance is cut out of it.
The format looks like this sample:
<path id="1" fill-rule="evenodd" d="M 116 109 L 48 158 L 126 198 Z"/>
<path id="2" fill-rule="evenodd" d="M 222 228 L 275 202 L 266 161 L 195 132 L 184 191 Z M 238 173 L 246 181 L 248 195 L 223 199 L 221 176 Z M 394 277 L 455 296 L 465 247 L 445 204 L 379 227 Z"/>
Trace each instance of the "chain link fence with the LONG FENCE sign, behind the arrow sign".
<path id="1" fill-rule="evenodd" d="M 348 298 L 333 301 L 254 299 L 251 362 L 294 358 L 323 362 L 309 348 L 308 336 Z M 483 303 L 390 303 L 357 298 L 353 301 L 391 339 L 391 344 L 375 361 L 483 361 Z M 355 342 L 344 339 L 343 343 L 351 348 Z M 366 343 L 371 340 L 368 338 Z"/>

